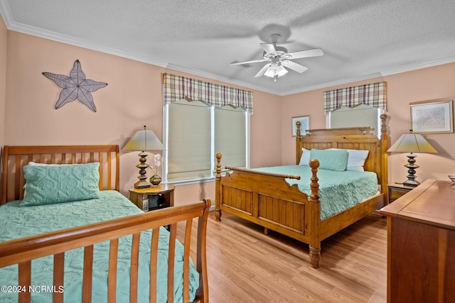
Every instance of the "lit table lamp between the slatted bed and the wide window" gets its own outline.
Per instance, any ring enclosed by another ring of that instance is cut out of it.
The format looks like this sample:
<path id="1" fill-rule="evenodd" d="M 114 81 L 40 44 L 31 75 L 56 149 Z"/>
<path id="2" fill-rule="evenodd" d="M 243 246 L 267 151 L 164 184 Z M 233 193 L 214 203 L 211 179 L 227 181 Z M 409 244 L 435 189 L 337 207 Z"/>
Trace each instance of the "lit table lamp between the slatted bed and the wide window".
<path id="1" fill-rule="evenodd" d="M 151 150 L 164 150 L 163 144 L 159 141 L 159 138 L 156 137 L 153 131 L 150 131 L 144 126 L 144 129 L 141 129 L 134 133 L 131 139 L 129 139 L 127 145 L 124 146 L 123 150 L 125 151 L 133 151 L 137 150 L 140 151 L 139 153 L 139 164 L 136 165 L 139 168 L 139 179 L 138 182 L 134 183 L 135 188 L 147 188 L 150 187 L 151 184 L 146 181 L 146 168 L 149 165 L 146 163 L 146 156 L 148 155 L 145 153 L 146 151 Z"/>

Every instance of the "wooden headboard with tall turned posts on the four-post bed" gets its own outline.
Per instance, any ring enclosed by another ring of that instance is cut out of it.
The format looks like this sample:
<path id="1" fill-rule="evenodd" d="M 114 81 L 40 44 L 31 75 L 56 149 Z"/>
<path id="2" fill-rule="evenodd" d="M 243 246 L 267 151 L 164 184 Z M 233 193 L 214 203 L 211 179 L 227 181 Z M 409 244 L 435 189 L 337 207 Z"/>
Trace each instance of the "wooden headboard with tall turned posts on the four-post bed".
<path id="1" fill-rule="evenodd" d="M 309 129 L 306 130 L 306 136 L 301 136 L 300 123 L 297 122 L 296 164 L 299 164 L 301 158 L 301 148 L 369 150 L 364 169 L 378 175 L 381 192 L 385 192 L 388 179 L 387 126 L 385 125 L 387 115 L 382 114 L 380 118 L 382 121 L 380 139 L 370 133 L 372 131 L 370 127 Z"/>

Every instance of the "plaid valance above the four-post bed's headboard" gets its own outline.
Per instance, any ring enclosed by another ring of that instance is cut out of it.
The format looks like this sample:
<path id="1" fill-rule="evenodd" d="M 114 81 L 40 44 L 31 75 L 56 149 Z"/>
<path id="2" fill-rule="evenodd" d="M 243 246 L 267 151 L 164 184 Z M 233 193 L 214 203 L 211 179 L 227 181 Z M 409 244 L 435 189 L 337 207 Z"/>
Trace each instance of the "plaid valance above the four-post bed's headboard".
<path id="1" fill-rule="evenodd" d="M 385 82 L 363 84 L 357 87 L 346 87 L 324 92 L 324 114 L 328 114 L 340 106 L 354 107 L 359 104 L 387 110 Z"/>

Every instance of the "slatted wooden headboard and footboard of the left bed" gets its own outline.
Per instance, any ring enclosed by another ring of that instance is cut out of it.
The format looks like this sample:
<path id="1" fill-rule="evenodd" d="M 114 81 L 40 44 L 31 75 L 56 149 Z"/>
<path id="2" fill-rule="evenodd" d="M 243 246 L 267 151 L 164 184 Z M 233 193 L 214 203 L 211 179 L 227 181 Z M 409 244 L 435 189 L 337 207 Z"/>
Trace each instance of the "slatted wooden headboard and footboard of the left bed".
<path id="1" fill-rule="evenodd" d="M 4 146 L 1 170 L 0 204 L 22 199 L 23 165 L 28 162 L 43 163 L 85 163 L 100 162 L 100 189 L 119 191 L 119 146 L 118 145 L 69 145 L 69 146 Z M 202 202 L 173 206 L 144 214 L 104 221 L 86 226 L 68 228 L 62 231 L 43 233 L 0 243 L 0 268 L 18 264 L 18 285 L 31 285 L 31 260 L 47 255 L 54 258 L 54 282 L 63 285 L 64 256 L 66 250 L 84 248 L 84 269 L 82 282 L 83 302 L 90 302 L 92 295 L 92 260 L 95 243 L 110 241 L 108 269 L 108 302 L 116 301 L 117 249 L 118 239 L 133 235 L 131 253 L 130 302 L 137 302 L 137 274 L 139 258 L 139 233 L 153 228 L 151 243 L 151 277 L 156 276 L 159 226 L 170 225 L 170 247 L 168 262 L 168 302 L 173 302 L 174 246 L 179 222 L 184 228 L 183 257 L 183 300 L 189 302 L 189 260 L 191 238 L 196 237 L 195 267 L 200 274 L 199 288 L 193 302 L 208 302 L 208 276 L 206 261 L 206 228 L 210 199 Z M 198 219 L 197 233 L 192 234 L 193 219 Z M 30 302 L 30 292 L 18 294 L 19 302 Z M 150 302 L 156 301 L 156 282 L 151 279 Z M 63 292 L 53 294 L 53 302 L 63 302 Z"/>

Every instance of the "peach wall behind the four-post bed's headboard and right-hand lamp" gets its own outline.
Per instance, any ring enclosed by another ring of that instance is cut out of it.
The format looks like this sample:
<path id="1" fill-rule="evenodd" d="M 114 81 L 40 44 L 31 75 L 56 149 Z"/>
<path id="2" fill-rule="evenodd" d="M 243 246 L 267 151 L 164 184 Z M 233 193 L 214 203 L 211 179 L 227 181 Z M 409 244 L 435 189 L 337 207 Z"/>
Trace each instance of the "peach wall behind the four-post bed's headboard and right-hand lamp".
<path id="1" fill-rule="evenodd" d="M 341 87 L 351 87 L 370 82 L 387 82 L 387 120 L 389 146 L 410 129 L 410 102 L 439 98 L 455 99 L 455 63 L 427 67 L 411 72 L 402 72 L 362 82 L 352 82 L 302 92 L 283 97 L 282 105 L 282 163 L 295 161 L 295 137 L 291 137 L 291 117 L 310 115 L 311 128 L 325 128 L 323 115 L 323 92 Z M 447 175 L 455 172 L 455 133 L 424 135 L 437 155 L 418 154 L 417 180 L 448 180 Z M 406 180 L 406 154 L 389 154 L 389 182 Z"/>

